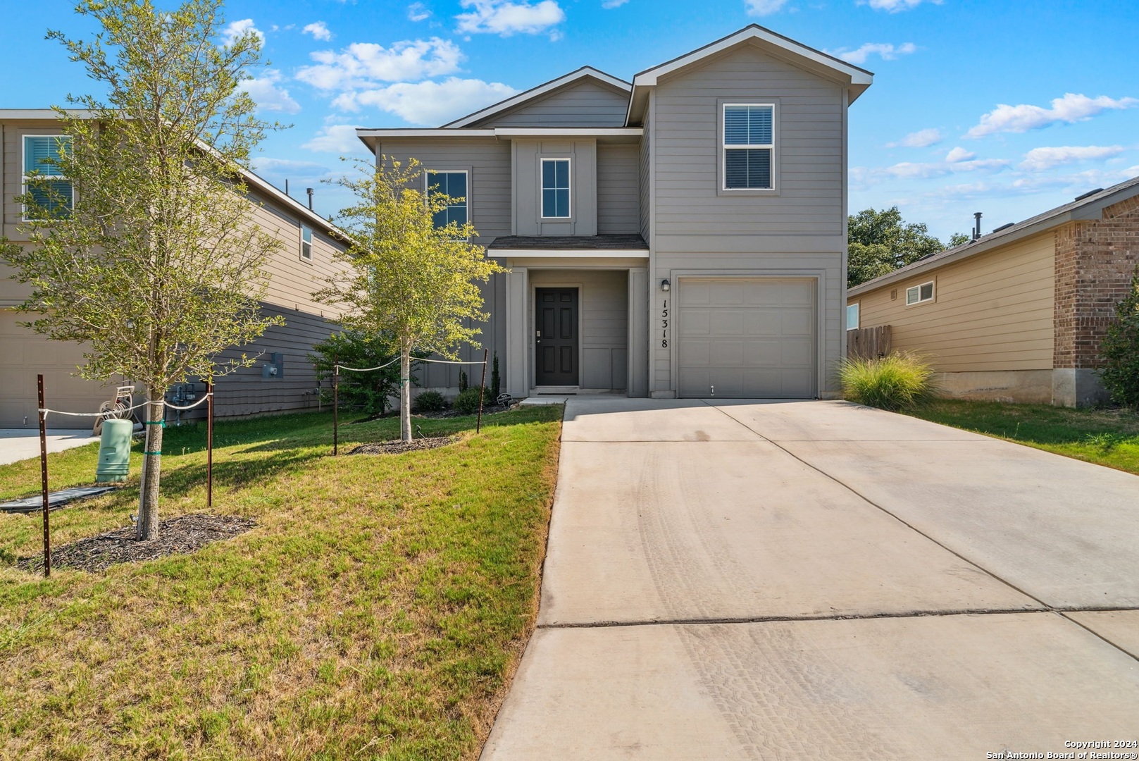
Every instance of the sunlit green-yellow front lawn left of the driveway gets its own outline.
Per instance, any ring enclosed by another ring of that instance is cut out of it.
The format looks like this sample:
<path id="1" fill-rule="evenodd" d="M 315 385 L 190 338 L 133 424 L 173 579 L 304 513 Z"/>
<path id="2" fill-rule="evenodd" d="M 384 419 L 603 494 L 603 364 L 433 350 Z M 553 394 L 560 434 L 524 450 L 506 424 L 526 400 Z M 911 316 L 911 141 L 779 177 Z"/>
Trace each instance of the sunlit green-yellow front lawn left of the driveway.
<path id="1" fill-rule="evenodd" d="M 329 415 L 220 423 L 214 512 L 257 526 L 103 574 L 18 571 L 40 518 L 0 514 L 0 759 L 475 758 L 536 614 L 560 411 L 421 419 L 458 443 L 335 459 Z M 341 451 L 396 435 L 345 425 Z M 204 426 L 163 449 L 162 510 L 202 512 Z M 51 488 L 96 457 L 52 455 Z M 36 460 L 0 466 L 2 496 L 38 484 Z M 54 542 L 137 499 L 54 512 Z"/>

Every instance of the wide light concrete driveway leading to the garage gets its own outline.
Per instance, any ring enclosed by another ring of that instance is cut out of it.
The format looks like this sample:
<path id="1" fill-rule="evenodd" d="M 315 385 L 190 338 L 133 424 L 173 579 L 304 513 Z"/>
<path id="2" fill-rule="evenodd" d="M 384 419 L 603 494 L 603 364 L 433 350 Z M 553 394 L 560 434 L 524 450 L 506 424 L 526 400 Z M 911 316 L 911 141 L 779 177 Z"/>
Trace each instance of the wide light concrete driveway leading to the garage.
<path id="1" fill-rule="evenodd" d="M 845 402 L 568 402 L 484 759 L 1104 739 L 1139 740 L 1139 477 Z"/>

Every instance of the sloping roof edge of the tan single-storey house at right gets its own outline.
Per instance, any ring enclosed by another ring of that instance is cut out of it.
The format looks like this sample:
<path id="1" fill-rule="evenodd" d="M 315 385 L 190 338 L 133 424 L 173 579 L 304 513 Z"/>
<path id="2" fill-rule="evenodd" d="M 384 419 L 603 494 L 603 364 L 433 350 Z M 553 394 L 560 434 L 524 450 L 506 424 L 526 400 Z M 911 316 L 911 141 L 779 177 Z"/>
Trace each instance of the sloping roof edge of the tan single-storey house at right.
<path id="1" fill-rule="evenodd" d="M 1100 188 L 1098 190 L 1093 190 L 1089 194 L 1079 196 L 1074 201 L 1070 201 L 1066 204 L 1057 206 L 1056 208 L 1050 208 L 1042 214 L 1036 214 L 1035 216 L 1030 216 L 1029 219 L 1017 222 L 1016 224 L 1003 227 L 999 231 L 983 235 L 976 240 L 970 240 L 969 243 L 961 244 L 960 246 L 947 248 L 945 251 L 933 254 L 932 256 L 919 259 L 912 264 L 907 264 L 906 267 L 896 269 L 888 275 L 883 275 L 882 277 L 877 277 L 872 280 L 861 283 L 849 289 L 846 295 L 857 296 L 868 291 L 874 291 L 875 288 L 880 288 L 882 286 L 911 278 L 916 275 L 924 275 L 932 270 L 940 269 L 945 264 L 959 262 L 962 259 L 968 259 L 969 256 L 975 256 L 977 254 L 983 254 L 986 251 L 992 251 L 999 246 L 1022 240 L 1039 232 L 1044 232 L 1059 227 L 1060 224 L 1066 224 L 1067 222 L 1101 219 L 1104 207 L 1112 206 L 1133 196 L 1139 196 L 1139 177 L 1124 180 L 1123 182 L 1113 185 L 1106 189 Z"/>

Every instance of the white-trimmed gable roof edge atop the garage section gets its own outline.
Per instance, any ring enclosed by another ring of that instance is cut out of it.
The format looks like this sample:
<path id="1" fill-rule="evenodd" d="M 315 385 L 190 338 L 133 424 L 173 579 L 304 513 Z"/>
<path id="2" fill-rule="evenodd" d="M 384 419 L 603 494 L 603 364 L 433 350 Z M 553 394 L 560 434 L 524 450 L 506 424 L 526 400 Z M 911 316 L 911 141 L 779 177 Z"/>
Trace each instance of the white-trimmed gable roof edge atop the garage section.
<path id="1" fill-rule="evenodd" d="M 841 58 L 809 48 L 782 34 L 777 34 L 759 24 L 749 24 L 744 28 L 716 40 L 703 48 L 697 48 L 691 52 L 667 60 L 652 68 L 646 68 L 633 76 L 633 88 L 629 100 L 629 116 L 626 124 L 639 123 L 640 115 L 648 98 L 646 88 L 655 87 L 659 77 L 671 74 L 681 68 L 699 64 L 704 59 L 723 52 L 729 48 L 749 42 L 762 48 L 765 52 L 788 60 L 789 63 L 811 71 L 820 76 L 835 80 L 846 84 L 850 95 L 849 104 L 854 103 L 860 95 L 874 82 L 874 74 L 865 68 L 849 64 Z"/>

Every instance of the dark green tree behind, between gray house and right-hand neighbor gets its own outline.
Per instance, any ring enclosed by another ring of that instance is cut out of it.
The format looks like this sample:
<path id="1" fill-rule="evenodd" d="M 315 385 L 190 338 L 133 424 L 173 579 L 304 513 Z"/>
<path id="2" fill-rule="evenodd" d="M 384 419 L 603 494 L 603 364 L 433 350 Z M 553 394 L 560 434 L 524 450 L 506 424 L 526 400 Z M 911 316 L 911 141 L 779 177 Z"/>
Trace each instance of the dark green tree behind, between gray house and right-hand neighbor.
<path id="1" fill-rule="evenodd" d="M 944 249 L 924 223 L 907 224 L 898 206 L 880 212 L 867 208 L 847 218 L 846 285 L 888 275 Z"/>

